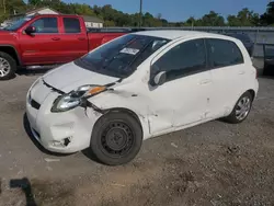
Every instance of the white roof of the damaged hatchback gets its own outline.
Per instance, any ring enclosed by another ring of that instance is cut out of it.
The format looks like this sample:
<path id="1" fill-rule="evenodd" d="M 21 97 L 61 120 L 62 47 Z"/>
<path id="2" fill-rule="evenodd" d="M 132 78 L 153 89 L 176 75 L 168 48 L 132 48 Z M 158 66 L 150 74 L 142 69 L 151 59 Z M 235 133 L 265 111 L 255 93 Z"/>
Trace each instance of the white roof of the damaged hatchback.
<path id="1" fill-rule="evenodd" d="M 214 34 L 214 33 L 207 33 L 207 32 L 195 32 L 195 31 L 179 31 L 179 30 L 145 31 L 145 32 L 137 32 L 135 34 L 155 36 L 155 37 L 168 38 L 168 39 L 176 39 L 176 38 L 184 38 L 184 37 L 191 37 L 191 36 L 235 39 L 233 37 L 220 35 L 220 34 Z"/>

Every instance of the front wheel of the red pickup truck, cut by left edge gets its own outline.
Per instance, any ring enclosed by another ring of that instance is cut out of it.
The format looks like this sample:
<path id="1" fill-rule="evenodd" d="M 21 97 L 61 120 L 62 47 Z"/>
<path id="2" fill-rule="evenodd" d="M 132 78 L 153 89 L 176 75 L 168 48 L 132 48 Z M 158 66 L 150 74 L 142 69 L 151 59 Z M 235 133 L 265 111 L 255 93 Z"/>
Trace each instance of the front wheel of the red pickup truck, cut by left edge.
<path id="1" fill-rule="evenodd" d="M 16 61 L 9 54 L 0 52 L 0 80 L 9 80 L 15 76 Z"/>

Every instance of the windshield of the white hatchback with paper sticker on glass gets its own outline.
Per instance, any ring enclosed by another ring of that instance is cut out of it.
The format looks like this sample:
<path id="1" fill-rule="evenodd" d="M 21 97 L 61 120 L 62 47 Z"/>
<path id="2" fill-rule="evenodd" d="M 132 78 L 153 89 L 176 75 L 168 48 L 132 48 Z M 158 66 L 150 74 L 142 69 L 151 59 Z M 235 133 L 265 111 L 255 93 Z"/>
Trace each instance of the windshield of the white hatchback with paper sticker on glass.
<path id="1" fill-rule="evenodd" d="M 88 70 L 125 78 L 169 39 L 128 34 L 89 53 L 75 62 Z"/>

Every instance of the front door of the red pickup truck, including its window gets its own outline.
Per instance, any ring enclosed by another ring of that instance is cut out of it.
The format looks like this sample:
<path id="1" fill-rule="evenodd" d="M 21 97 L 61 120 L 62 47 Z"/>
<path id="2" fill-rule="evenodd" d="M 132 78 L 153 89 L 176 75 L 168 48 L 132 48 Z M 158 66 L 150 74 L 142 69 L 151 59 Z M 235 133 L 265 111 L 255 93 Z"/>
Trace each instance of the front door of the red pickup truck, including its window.
<path id="1" fill-rule="evenodd" d="M 22 60 L 25 65 L 47 65 L 66 62 L 60 22 L 58 16 L 41 16 L 31 23 L 36 28 L 33 34 L 20 34 Z"/>

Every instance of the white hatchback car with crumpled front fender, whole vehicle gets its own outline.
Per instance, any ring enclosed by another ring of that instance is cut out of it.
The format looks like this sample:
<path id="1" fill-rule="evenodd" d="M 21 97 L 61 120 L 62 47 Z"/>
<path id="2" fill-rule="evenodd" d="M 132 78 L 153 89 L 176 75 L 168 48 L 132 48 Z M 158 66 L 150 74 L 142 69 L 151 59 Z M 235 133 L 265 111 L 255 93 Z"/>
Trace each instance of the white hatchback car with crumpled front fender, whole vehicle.
<path id="1" fill-rule="evenodd" d="M 87 148 L 123 164 L 144 139 L 212 119 L 244 121 L 256 70 L 232 37 L 147 31 L 118 37 L 37 79 L 26 96 L 34 137 L 48 150 Z"/>

